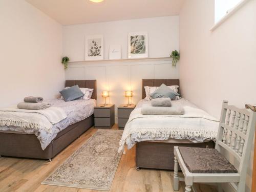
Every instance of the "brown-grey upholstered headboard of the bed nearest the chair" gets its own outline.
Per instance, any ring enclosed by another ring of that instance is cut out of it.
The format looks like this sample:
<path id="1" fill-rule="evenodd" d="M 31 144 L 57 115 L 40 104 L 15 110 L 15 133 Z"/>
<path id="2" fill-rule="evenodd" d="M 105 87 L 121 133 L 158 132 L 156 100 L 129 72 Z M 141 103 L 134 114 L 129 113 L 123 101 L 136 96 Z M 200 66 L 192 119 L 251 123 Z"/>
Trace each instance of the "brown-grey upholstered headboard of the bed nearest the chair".
<path id="1" fill-rule="evenodd" d="M 162 83 L 166 84 L 166 86 L 180 86 L 179 79 L 142 79 L 142 99 L 146 97 L 145 86 L 159 87 Z M 179 92 L 180 89 L 178 89 Z"/>

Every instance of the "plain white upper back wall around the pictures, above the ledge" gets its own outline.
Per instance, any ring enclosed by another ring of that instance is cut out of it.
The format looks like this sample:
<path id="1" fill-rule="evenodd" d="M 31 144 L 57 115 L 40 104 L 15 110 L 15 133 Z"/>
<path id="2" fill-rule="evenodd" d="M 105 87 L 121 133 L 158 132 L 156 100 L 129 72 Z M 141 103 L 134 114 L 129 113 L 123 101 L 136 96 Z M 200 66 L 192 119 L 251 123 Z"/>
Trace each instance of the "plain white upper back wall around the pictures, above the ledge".
<path id="1" fill-rule="evenodd" d="M 63 26 L 63 55 L 82 61 L 85 36 L 103 35 L 104 59 L 109 58 L 110 45 L 121 45 L 122 58 L 127 58 L 128 33 L 141 31 L 148 33 L 149 57 L 168 57 L 179 49 L 179 17 L 167 16 Z"/>

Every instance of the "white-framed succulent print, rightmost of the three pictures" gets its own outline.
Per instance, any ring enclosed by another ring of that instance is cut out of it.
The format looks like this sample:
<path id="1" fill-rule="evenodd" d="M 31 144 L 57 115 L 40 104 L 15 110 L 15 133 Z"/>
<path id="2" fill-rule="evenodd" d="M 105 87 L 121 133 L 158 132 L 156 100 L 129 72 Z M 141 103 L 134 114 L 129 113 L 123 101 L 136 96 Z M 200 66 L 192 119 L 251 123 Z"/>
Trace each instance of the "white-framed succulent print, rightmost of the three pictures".
<path id="1" fill-rule="evenodd" d="M 128 58 L 148 57 L 147 32 L 129 33 Z"/>

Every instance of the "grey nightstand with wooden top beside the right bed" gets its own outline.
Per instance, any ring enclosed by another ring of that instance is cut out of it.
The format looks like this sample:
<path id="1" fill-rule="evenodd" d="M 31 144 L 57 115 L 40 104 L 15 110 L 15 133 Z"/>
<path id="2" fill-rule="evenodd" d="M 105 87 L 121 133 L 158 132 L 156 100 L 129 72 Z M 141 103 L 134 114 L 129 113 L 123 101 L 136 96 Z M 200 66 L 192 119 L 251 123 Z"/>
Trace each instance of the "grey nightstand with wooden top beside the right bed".
<path id="1" fill-rule="evenodd" d="M 126 122 L 128 121 L 131 112 L 135 108 L 135 104 L 127 105 L 121 104 L 118 106 L 118 127 L 119 130 L 123 130 Z"/>

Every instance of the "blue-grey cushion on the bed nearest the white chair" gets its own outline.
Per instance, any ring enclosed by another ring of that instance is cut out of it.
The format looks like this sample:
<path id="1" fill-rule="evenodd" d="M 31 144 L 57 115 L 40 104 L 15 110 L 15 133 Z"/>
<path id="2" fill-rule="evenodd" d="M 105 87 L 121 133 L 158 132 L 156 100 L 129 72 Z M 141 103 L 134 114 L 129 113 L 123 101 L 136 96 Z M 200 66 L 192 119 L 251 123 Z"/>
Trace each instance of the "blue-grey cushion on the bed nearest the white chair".
<path id="1" fill-rule="evenodd" d="M 165 84 L 161 84 L 161 86 L 154 91 L 150 96 L 152 98 L 162 98 L 162 97 L 169 97 L 170 99 L 175 99 L 176 96 L 179 96 L 180 94 L 176 93 L 174 90 L 168 88 L 165 86 Z"/>

